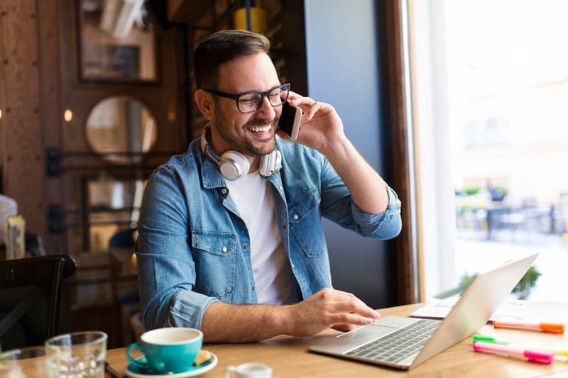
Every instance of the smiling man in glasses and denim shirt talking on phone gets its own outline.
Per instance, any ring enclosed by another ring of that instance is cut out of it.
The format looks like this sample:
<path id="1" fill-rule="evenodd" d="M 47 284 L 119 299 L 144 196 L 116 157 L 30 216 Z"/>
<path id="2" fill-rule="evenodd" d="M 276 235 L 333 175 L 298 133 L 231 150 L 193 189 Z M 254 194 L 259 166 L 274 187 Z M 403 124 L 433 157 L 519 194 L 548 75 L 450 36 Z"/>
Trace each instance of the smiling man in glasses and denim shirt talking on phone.
<path id="1" fill-rule="evenodd" d="M 400 232 L 400 201 L 332 106 L 279 82 L 269 47 L 224 30 L 195 49 L 195 103 L 209 124 L 148 180 L 136 248 L 146 328 L 245 342 L 379 317 L 332 289 L 321 216 L 384 240 Z M 297 143 L 275 136 L 286 99 L 304 111 Z"/>

